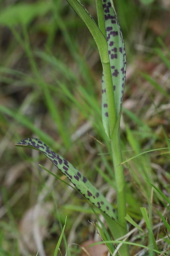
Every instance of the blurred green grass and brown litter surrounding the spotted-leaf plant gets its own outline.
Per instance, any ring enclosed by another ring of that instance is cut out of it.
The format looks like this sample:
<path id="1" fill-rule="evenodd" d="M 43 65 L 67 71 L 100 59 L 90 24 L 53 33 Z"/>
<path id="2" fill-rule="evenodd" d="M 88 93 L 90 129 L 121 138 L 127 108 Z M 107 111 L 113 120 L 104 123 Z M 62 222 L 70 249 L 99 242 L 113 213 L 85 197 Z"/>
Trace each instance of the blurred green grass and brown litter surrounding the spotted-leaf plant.
<path id="1" fill-rule="evenodd" d="M 127 54 L 123 160 L 170 147 L 170 4 L 141 2 L 114 1 Z M 97 20 L 95 1 L 83 4 Z M 94 40 L 66 1 L 4 0 L 0 10 L 0 253 L 36 255 L 40 248 L 40 255 L 53 255 L 66 215 L 68 244 L 92 238 L 95 228 L 88 220 L 96 217 L 74 189 L 39 167 L 67 181 L 49 160 L 14 144 L 26 137 L 41 138 L 116 205 L 100 113 L 102 67 Z M 168 219 L 169 212 L 144 179 L 169 196 L 170 164 L 168 154 L 161 153 L 165 151 L 124 164 L 128 214 L 147 230 L 140 212 L 146 207 L 157 239 L 166 234 L 153 206 Z M 130 239 L 148 245 L 142 233 Z M 159 250 L 167 246 L 162 240 L 158 245 Z M 64 243 L 61 250 L 64 254 Z M 77 246 L 70 246 L 70 251 L 80 255 Z M 138 251 L 132 247 L 131 255 Z"/>

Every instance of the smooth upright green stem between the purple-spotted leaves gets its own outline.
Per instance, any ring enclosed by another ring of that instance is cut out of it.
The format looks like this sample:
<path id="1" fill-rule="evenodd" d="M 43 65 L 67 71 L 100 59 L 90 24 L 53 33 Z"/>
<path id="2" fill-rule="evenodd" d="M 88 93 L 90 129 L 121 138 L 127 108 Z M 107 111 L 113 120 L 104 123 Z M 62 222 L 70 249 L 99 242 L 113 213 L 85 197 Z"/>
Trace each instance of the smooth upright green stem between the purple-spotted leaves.
<path id="1" fill-rule="evenodd" d="M 97 9 L 99 28 L 103 33 L 103 35 L 106 37 L 102 0 L 96 0 L 96 9 Z M 106 55 L 108 55 L 107 52 L 105 52 L 105 56 Z M 100 56 L 101 56 L 101 53 L 100 53 Z M 111 143 L 112 158 L 113 158 L 114 172 L 115 172 L 118 223 L 123 227 L 122 228 L 118 226 L 117 229 L 119 229 L 119 234 L 125 235 L 127 233 L 127 223 L 125 220 L 125 216 L 126 216 L 125 180 L 124 180 L 123 166 L 119 165 L 120 163 L 122 163 L 122 151 L 121 151 L 121 142 L 120 142 L 121 111 L 119 113 L 119 116 L 116 116 L 115 97 L 114 97 L 114 91 L 113 91 L 110 61 L 108 59 L 108 61 L 106 62 L 106 61 L 102 61 L 101 59 L 101 62 L 103 66 L 103 74 L 105 79 L 108 118 L 109 118 L 109 130 L 110 130 L 110 139 L 111 139 L 110 143 Z M 107 223 L 109 224 L 109 220 L 107 220 Z M 111 232 L 112 234 L 115 235 L 115 227 L 114 227 L 114 230 L 112 230 Z M 129 255 L 128 245 L 123 244 L 119 252 L 123 256 L 125 255 L 128 256 Z"/>

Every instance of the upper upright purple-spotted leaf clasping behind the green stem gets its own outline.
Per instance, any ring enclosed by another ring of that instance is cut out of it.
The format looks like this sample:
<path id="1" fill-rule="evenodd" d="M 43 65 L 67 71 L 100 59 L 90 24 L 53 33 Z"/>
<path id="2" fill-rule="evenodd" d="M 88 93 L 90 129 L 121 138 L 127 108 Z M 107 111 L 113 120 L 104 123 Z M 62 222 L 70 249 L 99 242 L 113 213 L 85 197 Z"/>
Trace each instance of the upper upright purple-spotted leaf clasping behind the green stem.
<path id="1" fill-rule="evenodd" d="M 122 30 L 115 12 L 112 0 L 102 0 L 105 20 L 108 55 L 112 72 L 113 91 L 115 98 L 116 116 L 122 108 L 122 98 L 126 74 L 126 53 Z M 109 120 L 104 76 L 102 76 L 102 121 L 109 137 Z"/>

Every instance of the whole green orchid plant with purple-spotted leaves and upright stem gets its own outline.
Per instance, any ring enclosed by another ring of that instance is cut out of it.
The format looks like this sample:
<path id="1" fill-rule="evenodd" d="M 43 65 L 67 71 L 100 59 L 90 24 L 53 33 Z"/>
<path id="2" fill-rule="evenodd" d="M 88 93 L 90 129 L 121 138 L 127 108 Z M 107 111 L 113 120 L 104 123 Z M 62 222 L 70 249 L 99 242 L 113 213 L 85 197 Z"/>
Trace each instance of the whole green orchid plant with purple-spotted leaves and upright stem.
<path id="1" fill-rule="evenodd" d="M 41 140 L 27 138 L 19 141 L 16 146 L 34 148 L 47 156 L 78 191 L 102 211 L 112 236 L 116 239 L 127 233 L 124 172 L 120 165 L 122 163 L 120 118 L 126 73 L 126 54 L 122 30 L 112 0 L 96 0 L 98 25 L 79 0 L 67 0 L 67 2 L 89 28 L 100 54 L 103 67 L 102 122 L 112 150 L 117 211 L 85 176 Z M 123 256 L 128 256 L 127 245 L 123 244 L 119 252 Z"/>

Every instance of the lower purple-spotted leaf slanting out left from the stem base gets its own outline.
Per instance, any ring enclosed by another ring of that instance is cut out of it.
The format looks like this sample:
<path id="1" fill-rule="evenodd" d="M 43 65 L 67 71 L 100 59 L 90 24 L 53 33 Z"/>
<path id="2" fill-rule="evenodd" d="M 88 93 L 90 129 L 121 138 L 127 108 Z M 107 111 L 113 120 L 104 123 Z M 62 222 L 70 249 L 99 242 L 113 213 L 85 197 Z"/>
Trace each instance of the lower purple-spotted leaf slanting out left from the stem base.
<path id="1" fill-rule="evenodd" d="M 41 151 L 50 161 L 72 182 L 78 191 L 85 196 L 92 204 L 106 213 L 110 218 L 116 220 L 116 213 L 113 206 L 96 189 L 89 180 L 85 178 L 72 164 L 62 156 L 56 154 L 44 142 L 36 138 L 27 138 L 15 144 L 18 147 L 33 148 Z"/>

